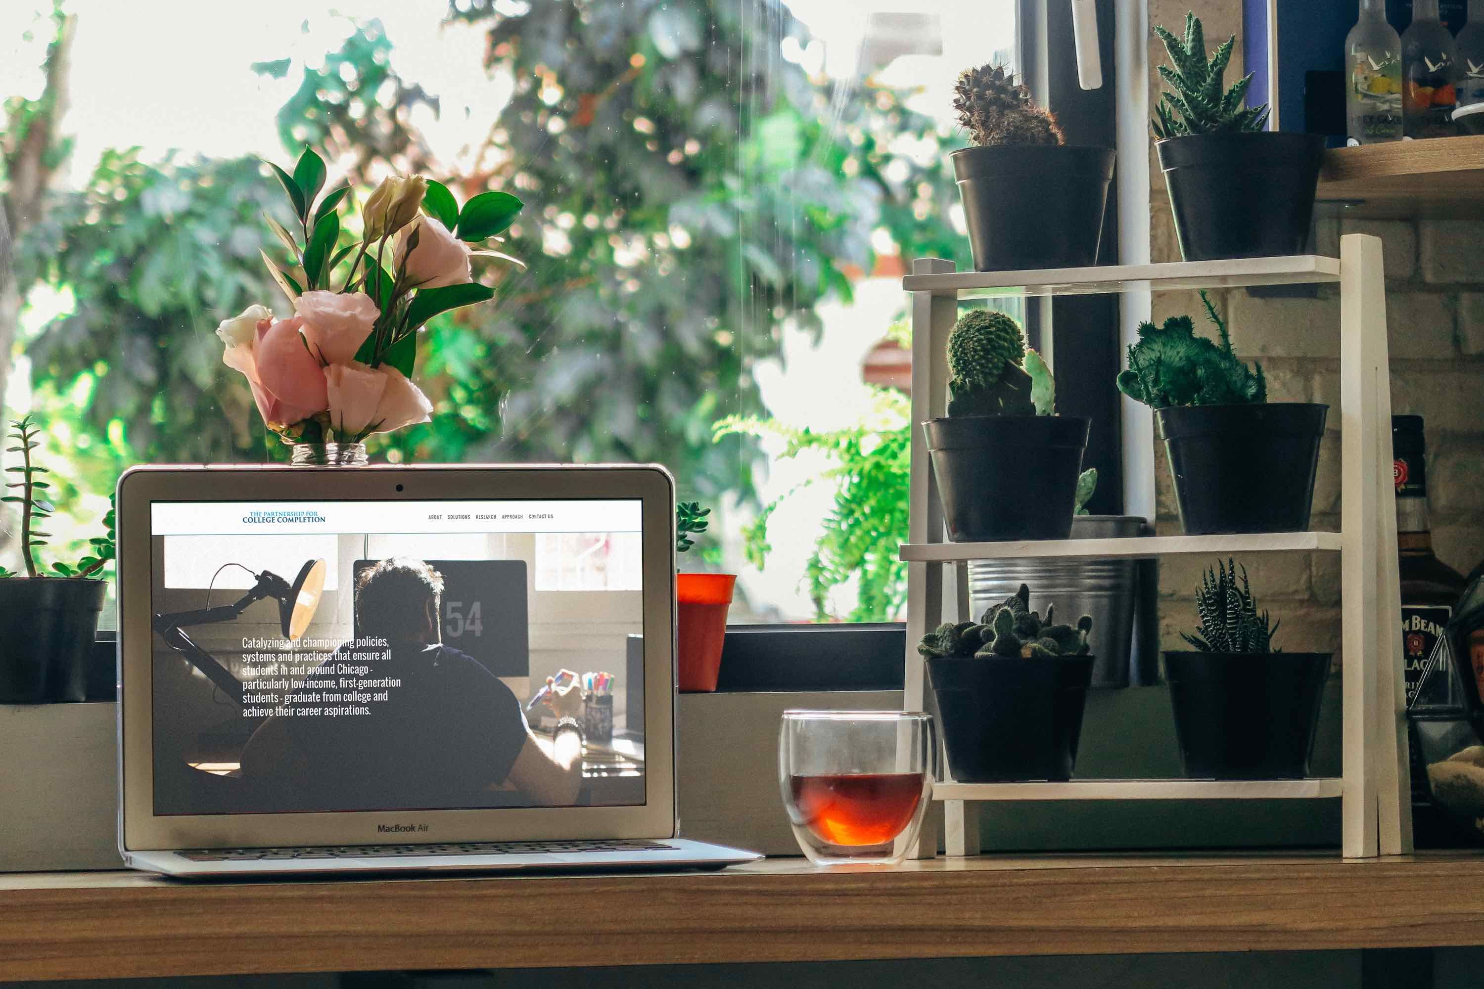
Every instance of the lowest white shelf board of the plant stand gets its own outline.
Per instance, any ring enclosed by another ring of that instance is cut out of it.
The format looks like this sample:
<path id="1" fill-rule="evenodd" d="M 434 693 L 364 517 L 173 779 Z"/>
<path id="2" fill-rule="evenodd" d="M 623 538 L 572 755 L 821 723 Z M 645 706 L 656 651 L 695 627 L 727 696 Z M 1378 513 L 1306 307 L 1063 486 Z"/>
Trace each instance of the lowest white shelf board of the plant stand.
<path id="1" fill-rule="evenodd" d="M 935 801 L 1273 801 L 1340 796 L 1343 780 L 938 783 Z"/>

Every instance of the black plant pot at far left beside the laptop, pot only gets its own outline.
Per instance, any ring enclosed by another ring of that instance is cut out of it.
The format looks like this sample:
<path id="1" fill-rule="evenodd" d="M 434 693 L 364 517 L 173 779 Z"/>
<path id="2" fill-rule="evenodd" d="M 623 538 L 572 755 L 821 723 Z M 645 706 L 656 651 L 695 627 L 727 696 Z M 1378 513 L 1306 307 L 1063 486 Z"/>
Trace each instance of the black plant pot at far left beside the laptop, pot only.
<path id="1" fill-rule="evenodd" d="M 80 701 L 107 584 L 101 580 L 0 580 L 0 704 Z"/>

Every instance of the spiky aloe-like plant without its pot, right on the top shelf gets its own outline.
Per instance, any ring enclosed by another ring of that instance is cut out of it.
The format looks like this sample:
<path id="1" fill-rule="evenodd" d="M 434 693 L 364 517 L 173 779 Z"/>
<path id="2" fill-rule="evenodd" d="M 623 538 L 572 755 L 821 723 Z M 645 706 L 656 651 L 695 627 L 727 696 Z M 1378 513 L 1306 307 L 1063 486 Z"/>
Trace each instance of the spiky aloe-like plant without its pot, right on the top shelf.
<path id="1" fill-rule="evenodd" d="M 1201 18 L 1186 13 L 1186 37 L 1178 39 L 1162 27 L 1155 34 L 1165 43 L 1165 52 L 1174 68 L 1160 65 L 1159 74 L 1175 92 L 1165 90 L 1155 105 L 1152 126 L 1159 138 L 1178 138 L 1192 133 L 1241 133 L 1261 130 L 1267 123 L 1267 104 L 1244 107 L 1252 74 L 1236 80 L 1223 90 L 1226 67 L 1232 61 L 1233 34 L 1217 46 L 1206 59 L 1205 33 Z"/>

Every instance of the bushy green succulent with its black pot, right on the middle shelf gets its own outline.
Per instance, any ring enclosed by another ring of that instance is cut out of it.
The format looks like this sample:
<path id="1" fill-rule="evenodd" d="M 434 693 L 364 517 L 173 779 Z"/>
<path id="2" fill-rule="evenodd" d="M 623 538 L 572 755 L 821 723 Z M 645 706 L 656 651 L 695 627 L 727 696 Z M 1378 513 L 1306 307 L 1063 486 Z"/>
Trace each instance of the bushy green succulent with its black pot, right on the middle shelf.
<path id="1" fill-rule="evenodd" d="M 1220 343 L 1189 316 L 1141 323 L 1119 390 L 1155 409 L 1180 504 L 1180 525 L 1205 532 L 1309 528 L 1327 405 L 1267 403 L 1263 366 L 1232 351 L 1226 322 L 1201 300 Z"/>

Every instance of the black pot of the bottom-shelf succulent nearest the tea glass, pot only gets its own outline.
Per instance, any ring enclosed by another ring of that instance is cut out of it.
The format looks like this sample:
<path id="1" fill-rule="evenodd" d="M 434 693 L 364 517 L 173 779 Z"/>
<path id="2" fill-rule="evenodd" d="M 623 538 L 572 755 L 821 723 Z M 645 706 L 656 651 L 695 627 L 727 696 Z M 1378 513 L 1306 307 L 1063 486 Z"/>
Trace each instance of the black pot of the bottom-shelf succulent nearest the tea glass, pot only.
<path id="1" fill-rule="evenodd" d="M 1070 780 L 1091 655 L 928 660 L 959 783 Z"/>

